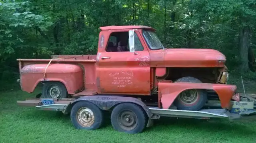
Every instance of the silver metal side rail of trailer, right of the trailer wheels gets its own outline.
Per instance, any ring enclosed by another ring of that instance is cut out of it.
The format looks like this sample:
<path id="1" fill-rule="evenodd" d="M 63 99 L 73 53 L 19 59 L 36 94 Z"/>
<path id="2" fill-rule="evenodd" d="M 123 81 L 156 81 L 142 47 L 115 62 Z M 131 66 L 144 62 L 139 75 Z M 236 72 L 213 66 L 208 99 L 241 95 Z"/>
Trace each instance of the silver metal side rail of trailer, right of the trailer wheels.
<path id="1" fill-rule="evenodd" d="M 203 109 L 199 111 L 188 110 L 172 110 L 172 109 L 159 109 L 157 107 L 149 107 L 150 112 L 153 114 L 153 119 L 159 119 L 160 116 L 165 117 L 178 117 L 178 118 L 227 118 L 225 109 Z"/>

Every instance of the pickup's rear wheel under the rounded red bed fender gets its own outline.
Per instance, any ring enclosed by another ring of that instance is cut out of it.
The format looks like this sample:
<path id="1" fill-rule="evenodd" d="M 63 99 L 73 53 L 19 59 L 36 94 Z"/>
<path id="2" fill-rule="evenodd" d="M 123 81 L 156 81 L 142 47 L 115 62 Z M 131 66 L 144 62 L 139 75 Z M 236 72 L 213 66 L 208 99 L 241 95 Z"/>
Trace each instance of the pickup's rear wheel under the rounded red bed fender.
<path id="1" fill-rule="evenodd" d="M 53 94 L 51 94 L 52 92 Z M 66 86 L 61 82 L 45 82 L 42 88 L 42 98 L 68 98 Z"/>

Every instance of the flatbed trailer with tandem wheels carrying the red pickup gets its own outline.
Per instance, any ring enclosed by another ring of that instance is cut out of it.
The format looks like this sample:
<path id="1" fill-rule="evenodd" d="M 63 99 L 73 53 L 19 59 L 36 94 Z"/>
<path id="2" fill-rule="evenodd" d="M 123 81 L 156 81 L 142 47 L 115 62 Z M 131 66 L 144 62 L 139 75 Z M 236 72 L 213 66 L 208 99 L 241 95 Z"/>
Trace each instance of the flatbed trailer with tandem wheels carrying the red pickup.
<path id="1" fill-rule="evenodd" d="M 104 120 L 103 110 L 111 111 L 112 126 L 125 133 L 140 133 L 145 127 L 153 125 L 153 119 L 159 119 L 162 116 L 197 119 L 228 118 L 230 120 L 256 118 L 256 110 L 234 114 L 222 109 L 219 104 L 208 103 L 199 111 L 177 110 L 175 106 L 170 109 L 160 109 L 157 106 L 149 106 L 137 98 L 109 95 L 82 96 L 77 99 L 30 98 L 17 101 L 17 104 L 70 114 L 71 121 L 77 129 L 87 130 L 100 128 Z"/>

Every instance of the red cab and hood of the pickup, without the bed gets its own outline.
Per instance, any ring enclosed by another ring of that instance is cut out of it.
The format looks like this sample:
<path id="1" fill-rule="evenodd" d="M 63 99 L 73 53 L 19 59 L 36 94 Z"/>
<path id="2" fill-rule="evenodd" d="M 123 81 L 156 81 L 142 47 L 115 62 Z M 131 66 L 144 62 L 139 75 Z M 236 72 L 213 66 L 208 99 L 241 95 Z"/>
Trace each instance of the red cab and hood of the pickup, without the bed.
<path id="1" fill-rule="evenodd" d="M 192 76 L 225 84 L 226 57 L 212 49 L 166 49 L 155 29 L 146 26 L 101 27 L 96 77 L 99 93 L 150 95 L 157 80 Z M 143 88 L 142 88 L 143 87 Z"/>

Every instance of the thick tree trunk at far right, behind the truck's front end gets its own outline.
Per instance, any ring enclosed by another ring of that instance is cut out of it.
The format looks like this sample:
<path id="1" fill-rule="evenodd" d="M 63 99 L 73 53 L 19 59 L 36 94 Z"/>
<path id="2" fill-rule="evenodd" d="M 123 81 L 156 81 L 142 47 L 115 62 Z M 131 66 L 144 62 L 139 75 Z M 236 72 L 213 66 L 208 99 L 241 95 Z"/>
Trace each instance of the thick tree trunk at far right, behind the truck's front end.
<path id="1" fill-rule="evenodd" d="M 243 26 L 240 29 L 239 34 L 240 41 L 240 70 L 241 72 L 247 72 L 249 70 L 248 66 L 248 50 L 249 50 L 249 26 Z"/>

